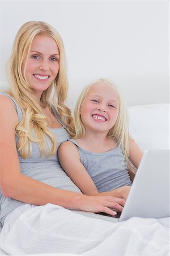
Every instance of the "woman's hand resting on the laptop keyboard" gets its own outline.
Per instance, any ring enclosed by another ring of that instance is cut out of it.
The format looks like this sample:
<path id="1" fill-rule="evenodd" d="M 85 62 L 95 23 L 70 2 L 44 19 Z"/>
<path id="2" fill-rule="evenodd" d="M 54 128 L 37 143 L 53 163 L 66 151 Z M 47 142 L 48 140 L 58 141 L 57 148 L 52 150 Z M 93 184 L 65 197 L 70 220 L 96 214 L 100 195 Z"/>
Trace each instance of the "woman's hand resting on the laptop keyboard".
<path id="1" fill-rule="evenodd" d="M 125 200 L 113 196 L 84 196 L 79 209 L 87 212 L 104 212 L 115 216 L 117 213 L 112 209 L 122 212 Z"/>

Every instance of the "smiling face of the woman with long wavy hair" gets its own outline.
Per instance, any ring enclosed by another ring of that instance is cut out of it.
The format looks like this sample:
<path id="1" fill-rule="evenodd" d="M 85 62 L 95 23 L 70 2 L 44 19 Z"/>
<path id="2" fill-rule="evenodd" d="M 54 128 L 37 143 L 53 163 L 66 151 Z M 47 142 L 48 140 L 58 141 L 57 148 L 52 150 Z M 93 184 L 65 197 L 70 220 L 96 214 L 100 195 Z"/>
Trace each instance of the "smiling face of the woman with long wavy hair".
<path id="1" fill-rule="evenodd" d="M 59 70 L 59 49 L 56 41 L 47 35 L 36 35 L 22 71 L 36 97 L 40 99 L 56 79 Z"/>

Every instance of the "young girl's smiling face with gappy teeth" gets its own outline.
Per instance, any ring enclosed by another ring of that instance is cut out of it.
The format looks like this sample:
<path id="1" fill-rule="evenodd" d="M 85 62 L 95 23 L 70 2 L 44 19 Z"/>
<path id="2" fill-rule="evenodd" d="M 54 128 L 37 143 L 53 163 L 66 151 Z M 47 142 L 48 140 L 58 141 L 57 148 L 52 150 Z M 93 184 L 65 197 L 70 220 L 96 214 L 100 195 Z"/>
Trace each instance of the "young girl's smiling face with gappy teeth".
<path id="1" fill-rule="evenodd" d="M 103 82 L 96 82 L 90 87 L 80 108 L 86 132 L 93 130 L 107 134 L 116 123 L 118 112 L 117 93 Z"/>

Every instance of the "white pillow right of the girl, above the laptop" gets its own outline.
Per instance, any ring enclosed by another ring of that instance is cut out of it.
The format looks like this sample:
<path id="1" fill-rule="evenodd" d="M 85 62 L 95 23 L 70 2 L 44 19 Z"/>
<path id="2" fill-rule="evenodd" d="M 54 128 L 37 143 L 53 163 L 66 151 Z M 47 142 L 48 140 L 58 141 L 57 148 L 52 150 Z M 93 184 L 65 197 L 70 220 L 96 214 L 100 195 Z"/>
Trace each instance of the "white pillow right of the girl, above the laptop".
<path id="1" fill-rule="evenodd" d="M 130 106 L 129 133 L 142 151 L 169 149 L 169 104 Z"/>

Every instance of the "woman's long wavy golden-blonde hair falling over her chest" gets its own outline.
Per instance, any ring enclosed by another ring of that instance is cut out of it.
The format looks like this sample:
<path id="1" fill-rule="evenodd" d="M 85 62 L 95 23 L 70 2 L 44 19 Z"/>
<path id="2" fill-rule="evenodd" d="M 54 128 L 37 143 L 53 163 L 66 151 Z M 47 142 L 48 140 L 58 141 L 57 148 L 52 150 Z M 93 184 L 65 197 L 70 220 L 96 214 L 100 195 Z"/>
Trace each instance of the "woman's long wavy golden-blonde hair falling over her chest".
<path id="1" fill-rule="evenodd" d="M 23 61 L 28 57 L 31 44 L 36 35 L 47 35 L 53 38 L 59 48 L 59 72 L 53 84 L 49 86 L 40 99 L 43 107 L 54 105 L 61 117 L 62 122 L 66 125 L 69 134 L 73 129 L 71 127 L 70 109 L 65 105 L 67 96 L 68 82 L 66 69 L 66 55 L 62 38 L 58 32 L 49 24 L 41 21 L 29 21 L 16 34 L 10 59 L 8 60 L 8 74 L 10 78 L 10 93 L 18 102 L 23 112 L 23 118 L 16 126 L 18 135 L 17 148 L 23 158 L 32 154 L 31 142 L 37 142 L 40 147 L 40 154 L 46 157 L 56 153 L 56 139 L 48 128 L 48 119 L 46 118 L 40 104 L 33 95 L 32 88 L 24 77 L 22 66 Z M 49 97 L 53 92 L 52 102 Z M 52 144 L 48 143 L 48 139 Z"/>

